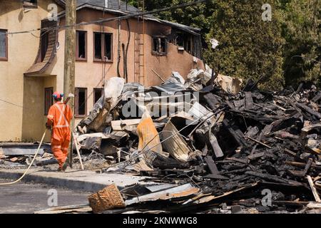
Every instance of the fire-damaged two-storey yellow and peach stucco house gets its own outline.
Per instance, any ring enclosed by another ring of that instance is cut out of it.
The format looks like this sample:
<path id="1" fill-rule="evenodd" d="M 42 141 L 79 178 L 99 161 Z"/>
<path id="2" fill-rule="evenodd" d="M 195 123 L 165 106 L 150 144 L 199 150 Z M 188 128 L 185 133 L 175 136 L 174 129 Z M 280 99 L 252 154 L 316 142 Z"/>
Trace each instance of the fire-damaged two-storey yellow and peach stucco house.
<path id="1" fill-rule="evenodd" d="M 58 9 L 54 21 L 49 4 Z M 1 1 L 0 128 L 10 125 L 10 131 L 1 131 L 0 141 L 39 140 L 44 132 L 51 94 L 63 90 L 64 7 L 64 1 Z M 204 68 L 197 28 L 146 15 L 121 20 L 118 30 L 115 17 L 138 12 L 124 2 L 119 9 L 116 0 L 77 1 L 77 24 L 111 20 L 76 26 L 76 124 L 101 98 L 108 78 L 156 86 L 172 71 L 186 76 L 191 68 Z"/>

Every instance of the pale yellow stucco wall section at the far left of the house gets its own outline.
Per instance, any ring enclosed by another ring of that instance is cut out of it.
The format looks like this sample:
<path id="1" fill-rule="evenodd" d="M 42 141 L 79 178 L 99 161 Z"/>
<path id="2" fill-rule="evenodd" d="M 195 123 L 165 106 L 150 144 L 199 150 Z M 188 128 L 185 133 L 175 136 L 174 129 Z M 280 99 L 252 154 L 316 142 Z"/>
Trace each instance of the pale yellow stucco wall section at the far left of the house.
<path id="1" fill-rule="evenodd" d="M 0 28 L 9 32 L 39 28 L 41 19 L 46 18 L 47 7 L 53 1 L 39 1 L 38 9 L 24 12 L 22 1 L 1 0 Z M 59 10 L 61 10 L 59 8 Z M 39 36 L 39 32 L 34 32 Z M 24 72 L 34 63 L 39 48 L 39 38 L 30 33 L 9 35 L 8 61 L 0 61 L 0 141 L 21 141 L 23 113 L 37 113 L 37 110 L 24 105 Z M 34 90 L 34 88 L 30 88 Z M 36 138 L 39 140 L 39 138 Z"/>

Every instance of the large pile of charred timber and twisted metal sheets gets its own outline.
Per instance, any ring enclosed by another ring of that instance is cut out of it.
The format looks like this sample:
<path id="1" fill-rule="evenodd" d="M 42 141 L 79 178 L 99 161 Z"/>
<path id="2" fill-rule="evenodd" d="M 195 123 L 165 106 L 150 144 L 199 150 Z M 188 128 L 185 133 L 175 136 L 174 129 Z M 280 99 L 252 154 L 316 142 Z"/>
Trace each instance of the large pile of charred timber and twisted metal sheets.
<path id="1" fill-rule="evenodd" d="M 109 164 L 101 172 L 161 184 L 126 187 L 126 208 L 106 212 L 320 212 L 321 91 L 263 92 L 251 80 L 241 90 L 210 69 L 187 78 L 151 88 L 111 78 L 78 125 L 78 149 Z"/>

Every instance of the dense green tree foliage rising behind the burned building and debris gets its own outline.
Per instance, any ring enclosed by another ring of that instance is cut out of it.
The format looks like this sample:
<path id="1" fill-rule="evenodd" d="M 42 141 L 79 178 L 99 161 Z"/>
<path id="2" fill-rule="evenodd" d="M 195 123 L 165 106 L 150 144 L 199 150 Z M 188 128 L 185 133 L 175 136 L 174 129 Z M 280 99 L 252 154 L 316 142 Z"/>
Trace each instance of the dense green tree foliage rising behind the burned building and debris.
<path id="1" fill-rule="evenodd" d="M 190 1 L 148 0 L 146 10 Z M 266 3 L 272 6 L 272 21 L 262 19 Z M 300 80 L 321 84 L 320 0 L 208 0 L 156 16 L 202 28 L 205 62 L 219 73 L 263 77 L 261 86 L 273 90 Z M 210 38 L 220 42 L 215 51 Z"/>

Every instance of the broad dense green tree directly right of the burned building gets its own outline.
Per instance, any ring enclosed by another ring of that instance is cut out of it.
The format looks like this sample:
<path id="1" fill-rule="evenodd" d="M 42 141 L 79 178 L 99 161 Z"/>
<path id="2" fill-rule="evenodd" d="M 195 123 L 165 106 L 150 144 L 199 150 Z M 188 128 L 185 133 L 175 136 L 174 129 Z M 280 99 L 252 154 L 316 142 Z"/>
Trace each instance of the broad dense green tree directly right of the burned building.
<path id="1" fill-rule="evenodd" d="M 239 78 L 264 78 L 263 88 L 279 89 L 282 77 L 282 33 L 276 5 L 272 21 L 263 21 L 262 6 L 267 1 L 215 1 L 207 41 L 216 38 L 220 45 L 205 51 L 205 60 L 215 63 L 219 73 Z"/>

